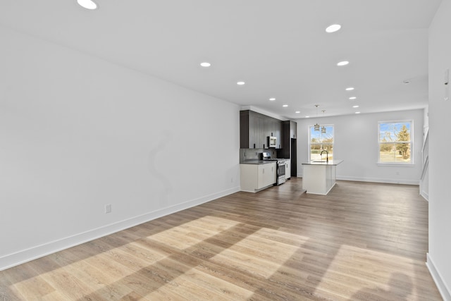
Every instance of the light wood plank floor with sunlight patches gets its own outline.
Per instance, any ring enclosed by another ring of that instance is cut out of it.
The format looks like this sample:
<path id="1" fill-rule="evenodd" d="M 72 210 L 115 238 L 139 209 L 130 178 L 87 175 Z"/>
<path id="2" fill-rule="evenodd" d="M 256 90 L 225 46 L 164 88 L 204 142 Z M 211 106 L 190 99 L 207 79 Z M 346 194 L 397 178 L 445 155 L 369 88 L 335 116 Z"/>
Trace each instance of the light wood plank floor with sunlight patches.
<path id="1" fill-rule="evenodd" d="M 0 300 L 441 300 L 417 186 L 238 192 L 0 272 Z"/>

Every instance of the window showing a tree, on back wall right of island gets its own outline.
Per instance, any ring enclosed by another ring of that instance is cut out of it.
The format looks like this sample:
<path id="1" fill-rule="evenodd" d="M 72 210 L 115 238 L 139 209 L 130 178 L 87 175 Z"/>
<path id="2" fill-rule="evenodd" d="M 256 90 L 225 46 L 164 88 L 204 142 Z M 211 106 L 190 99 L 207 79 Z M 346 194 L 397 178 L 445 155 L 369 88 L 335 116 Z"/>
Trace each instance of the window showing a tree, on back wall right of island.
<path id="1" fill-rule="evenodd" d="M 413 163 L 412 125 L 412 121 L 379 121 L 379 163 Z"/>

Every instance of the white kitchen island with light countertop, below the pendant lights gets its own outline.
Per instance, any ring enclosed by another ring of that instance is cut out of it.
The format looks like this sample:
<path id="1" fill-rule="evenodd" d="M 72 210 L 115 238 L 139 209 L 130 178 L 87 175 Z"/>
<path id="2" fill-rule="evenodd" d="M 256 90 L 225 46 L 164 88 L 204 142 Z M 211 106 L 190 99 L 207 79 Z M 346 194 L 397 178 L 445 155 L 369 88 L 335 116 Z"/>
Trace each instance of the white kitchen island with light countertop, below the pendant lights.
<path id="1" fill-rule="evenodd" d="M 302 189 L 314 195 L 327 195 L 335 185 L 337 165 L 343 160 L 309 161 L 302 163 Z"/>

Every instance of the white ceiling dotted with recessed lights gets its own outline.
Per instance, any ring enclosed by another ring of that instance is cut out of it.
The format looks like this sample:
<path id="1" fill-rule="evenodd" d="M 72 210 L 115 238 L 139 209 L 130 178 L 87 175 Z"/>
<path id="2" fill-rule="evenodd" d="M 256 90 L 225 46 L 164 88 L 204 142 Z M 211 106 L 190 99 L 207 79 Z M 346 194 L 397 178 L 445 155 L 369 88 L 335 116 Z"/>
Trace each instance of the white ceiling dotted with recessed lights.
<path id="1" fill-rule="evenodd" d="M 314 104 L 320 116 L 354 113 L 354 104 L 362 113 L 426 106 L 428 26 L 440 1 L 97 0 L 99 9 L 88 11 L 76 0 L 2 0 L 0 24 L 236 104 L 303 118 L 316 115 Z M 333 23 L 342 30 L 326 33 Z M 350 64 L 337 67 L 342 60 Z M 345 91 L 349 86 L 355 90 Z"/>

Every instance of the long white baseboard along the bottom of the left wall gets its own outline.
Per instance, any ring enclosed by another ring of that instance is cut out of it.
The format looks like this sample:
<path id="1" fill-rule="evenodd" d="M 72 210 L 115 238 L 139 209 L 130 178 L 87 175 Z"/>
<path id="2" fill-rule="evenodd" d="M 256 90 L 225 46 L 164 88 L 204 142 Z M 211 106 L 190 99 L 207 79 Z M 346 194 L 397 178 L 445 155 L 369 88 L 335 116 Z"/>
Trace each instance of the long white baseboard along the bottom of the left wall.
<path id="1" fill-rule="evenodd" d="M 230 188 L 228 190 L 216 192 L 214 194 L 199 197 L 197 199 L 191 199 L 187 202 L 176 204 L 170 207 L 151 211 L 146 214 L 142 214 L 140 216 L 134 216 L 130 219 L 125 219 L 123 221 L 111 223 L 106 226 L 101 226 L 99 228 L 86 231 L 84 233 L 78 233 L 76 235 L 72 235 L 66 238 L 61 238 L 59 240 L 47 242 L 42 245 L 30 247 L 26 250 L 20 250 L 12 254 L 7 254 L 5 256 L 0 257 L 0 271 L 9 269 L 13 266 L 24 264 L 25 262 L 30 262 L 34 259 L 38 259 L 40 257 L 44 257 L 61 250 L 68 249 L 69 247 L 75 247 L 76 245 L 80 245 L 82 243 L 95 240 L 97 238 L 101 238 L 106 235 L 110 235 L 133 226 L 140 225 L 141 223 L 147 223 L 148 221 L 158 219 L 168 214 L 173 214 L 178 211 L 182 211 L 191 207 L 198 206 L 200 204 L 204 204 L 206 202 L 210 202 L 214 199 L 218 199 L 219 197 L 231 195 L 232 193 L 238 191 L 240 191 L 240 187 Z"/>

